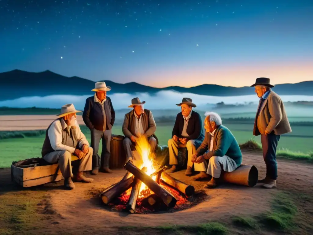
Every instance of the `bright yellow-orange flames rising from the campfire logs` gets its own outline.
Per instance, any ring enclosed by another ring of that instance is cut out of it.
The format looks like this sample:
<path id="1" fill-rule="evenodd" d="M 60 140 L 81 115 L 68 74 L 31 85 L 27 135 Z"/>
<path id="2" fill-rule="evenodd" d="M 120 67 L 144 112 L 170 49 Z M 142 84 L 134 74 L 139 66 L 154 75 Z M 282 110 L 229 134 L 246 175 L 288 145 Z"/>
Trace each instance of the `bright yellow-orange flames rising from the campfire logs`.
<path id="1" fill-rule="evenodd" d="M 139 169 L 142 169 L 143 167 L 146 167 L 146 174 L 151 175 L 153 174 L 156 169 L 153 165 L 153 156 L 151 156 L 150 151 L 150 144 L 148 142 L 148 139 L 145 136 L 138 137 L 138 140 L 136 142 L 136 150 L 138 154 L 141 157 L 141 165 L 137 166 Z M 152 177 L 153 180 L 156 180 L 156 175 Z M 138 198 L 144 198 L 152 194 L 151 190 L 141 182 L 140 190 L 139 190 L 139 196 Z"/>

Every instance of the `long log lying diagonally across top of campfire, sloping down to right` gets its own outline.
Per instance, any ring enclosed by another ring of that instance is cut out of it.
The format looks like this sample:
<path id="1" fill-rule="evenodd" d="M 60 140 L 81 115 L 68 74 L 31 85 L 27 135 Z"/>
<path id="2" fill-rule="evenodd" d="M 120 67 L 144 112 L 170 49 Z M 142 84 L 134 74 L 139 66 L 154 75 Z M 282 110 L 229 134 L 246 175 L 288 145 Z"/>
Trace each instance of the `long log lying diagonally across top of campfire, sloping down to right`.
<path id="1" fill-rule="evenodd" d="M 162 201 L 169 207 L 175 206 L 177 199 L 166 189 L 154 181 L 150 175 L 136 167 L 131 161 L 128 161 L 124 168 L 131 172 L 135 177 L 139 178 L 151 191 L 159 196 Z"/>

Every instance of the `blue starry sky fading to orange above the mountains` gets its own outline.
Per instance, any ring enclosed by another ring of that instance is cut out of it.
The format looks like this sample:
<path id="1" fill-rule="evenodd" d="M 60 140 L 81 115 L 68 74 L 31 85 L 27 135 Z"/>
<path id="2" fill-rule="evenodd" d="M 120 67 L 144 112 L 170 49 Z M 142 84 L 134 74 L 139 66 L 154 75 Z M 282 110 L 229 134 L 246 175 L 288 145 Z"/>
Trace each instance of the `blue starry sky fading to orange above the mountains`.
<path id="1" fill-rule="evenodd" d="M 312 0 L 0 0 L 0 72 L 250 86 L 313 80 Z"/>

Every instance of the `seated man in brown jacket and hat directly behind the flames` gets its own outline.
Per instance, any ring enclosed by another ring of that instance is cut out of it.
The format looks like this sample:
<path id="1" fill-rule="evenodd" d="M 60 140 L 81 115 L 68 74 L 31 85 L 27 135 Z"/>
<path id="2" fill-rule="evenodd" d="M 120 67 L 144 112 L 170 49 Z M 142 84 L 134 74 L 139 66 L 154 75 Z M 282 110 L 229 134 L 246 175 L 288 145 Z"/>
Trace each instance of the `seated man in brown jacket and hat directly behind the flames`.
<path id="1" fill-rule="evenodd" d="M 127 159 L 133 159 L 131 148 L 140 135 L 148 138 L 151 153 L 154 152 L 158 144 L 158 140 L 154 134 L 156 131 L 156 123 L 152 112 L 148 109 L 144 109 L 145 103 L 146 101 L 141 102 L 138 97 L 133 98 L 131 105 L 128 106 L 129 108 L 133 108 L 133 110 L 125 114 L 122 131 L 125 135 L 123 145 Z"/>

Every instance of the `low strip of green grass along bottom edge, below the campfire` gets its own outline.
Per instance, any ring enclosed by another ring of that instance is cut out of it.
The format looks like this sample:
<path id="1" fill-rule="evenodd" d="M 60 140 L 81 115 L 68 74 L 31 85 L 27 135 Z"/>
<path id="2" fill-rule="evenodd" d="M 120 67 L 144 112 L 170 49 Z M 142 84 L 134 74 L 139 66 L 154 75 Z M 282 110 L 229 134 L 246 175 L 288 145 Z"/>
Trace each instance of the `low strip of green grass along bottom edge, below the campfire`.
<path id="1" fill-rule="evenodd" d="M 119 227 L 119 229 L 122 230 L 134 230 L 134 229 L 140 229 L 142 230 L 148 230 L 152 229 L 155 231 L 160 232 L 192 232 L 192 233 L 198 233 L 201 235 L 223 235 L 228 233 L 228 229 L 221 223 L 218 222 L 208 222 L 204 224 L 199 225 L 167 225 L 167 226 L 156 226 L 156 227 L 137 227 L 137 226 L 126 226 L 126 227 Z"/>

